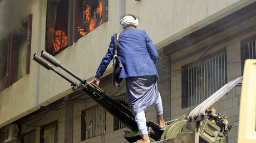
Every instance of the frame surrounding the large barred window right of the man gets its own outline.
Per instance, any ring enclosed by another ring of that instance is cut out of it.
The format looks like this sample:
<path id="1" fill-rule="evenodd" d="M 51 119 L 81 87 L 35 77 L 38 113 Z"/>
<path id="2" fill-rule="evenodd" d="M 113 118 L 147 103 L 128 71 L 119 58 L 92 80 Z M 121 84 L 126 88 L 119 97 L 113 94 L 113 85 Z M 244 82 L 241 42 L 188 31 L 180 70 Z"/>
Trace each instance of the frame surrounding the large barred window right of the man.
<path id="1" fill-rule="evenodd" d="M 185 64 L 181 67 L 181 108 L 184 109 L 184 108 L 188 108 L 190 106 L 194 106 L 194 105 L 188 105 L 188 92 L 189 92 L 189 88 L 188 88 L 188 67 L 190 66 L 193 66 L 195 64 L 198 64 L 198 63 L 202 63 L 204 62 L 205 60 L 208 60 L 210 58 L 213 58 L 213 57 L 216 57 L 220 54 L 225 54 L 225 71 L 226 71 L 226 74 L 225 74 L 225 81 L 227 83 L 227 48 L 222 48 L 220 50 L 217 50 L 216 52 L 213 52 L 213 53 L 210 53 L 208 55 L 205 55 L 204 57 L 198 59 L 198 60 L 194 60 L 193 62 L 190 62 L 188 64 Z M 206 75 L 208 76 L 208 75 Z M 218 90 L 218 89 L 217 89 Z M 210 95 L 209 95 L 210 96 Z M 205 100 L 205 99 L 204 99 Z M 204 101 L 203 100 L 203 101 Z M 200 103 L 199 103 L 200 104 Z M 196 104 L 195 104 L 196 105 Z"/>

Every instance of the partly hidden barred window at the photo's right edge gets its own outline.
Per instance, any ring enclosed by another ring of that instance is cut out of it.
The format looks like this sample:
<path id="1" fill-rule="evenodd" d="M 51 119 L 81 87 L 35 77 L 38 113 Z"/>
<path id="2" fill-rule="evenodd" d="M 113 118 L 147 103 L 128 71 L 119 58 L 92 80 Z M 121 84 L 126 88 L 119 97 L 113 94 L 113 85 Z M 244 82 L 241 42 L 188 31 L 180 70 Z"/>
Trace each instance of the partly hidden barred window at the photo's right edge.
<path id="1" fill-rule="evenodd" d="M 241 41 L 241 73 L 244 72 L 244 62 L 246 59 L 256 59 L 256 35 Z"/>

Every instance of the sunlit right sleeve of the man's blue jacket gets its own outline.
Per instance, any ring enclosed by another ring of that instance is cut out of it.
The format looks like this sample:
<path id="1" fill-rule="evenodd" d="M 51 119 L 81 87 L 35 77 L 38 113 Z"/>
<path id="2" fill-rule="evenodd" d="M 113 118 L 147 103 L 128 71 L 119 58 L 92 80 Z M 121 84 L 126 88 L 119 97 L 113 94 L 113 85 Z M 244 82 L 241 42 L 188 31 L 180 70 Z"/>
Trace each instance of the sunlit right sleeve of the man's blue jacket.
<path id="1" fill-rule="evenodd" d="M 152 40 L 149 38 L 149 36 L 145 32 L 145 37 L 146 37 L 146 47 L 147 47 L 147 52 L 149 52 L 150 58 L 153 60 L 153 62 L 157 63 L 158 60 L 158 52 L 154 47 L 154 44 L 152 43 Z"/>

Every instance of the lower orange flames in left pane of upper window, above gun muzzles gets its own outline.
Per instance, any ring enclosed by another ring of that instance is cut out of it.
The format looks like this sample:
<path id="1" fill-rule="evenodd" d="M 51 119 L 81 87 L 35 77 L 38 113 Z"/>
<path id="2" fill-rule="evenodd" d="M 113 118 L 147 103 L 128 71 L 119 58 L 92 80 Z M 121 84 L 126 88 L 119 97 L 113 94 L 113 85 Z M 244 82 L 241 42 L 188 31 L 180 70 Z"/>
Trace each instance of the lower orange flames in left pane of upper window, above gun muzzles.
<path id="1" fill-rule="evenodd" d="M 50 28 L 49 32 L 53 33 L 54 32 L 53 28 Z M 61 30 L 55 30 L 52 42 L 53 42 L 55 52 L 60 50 L 62 47 L 66 47 L 67 46 L 66 33 Z"/>

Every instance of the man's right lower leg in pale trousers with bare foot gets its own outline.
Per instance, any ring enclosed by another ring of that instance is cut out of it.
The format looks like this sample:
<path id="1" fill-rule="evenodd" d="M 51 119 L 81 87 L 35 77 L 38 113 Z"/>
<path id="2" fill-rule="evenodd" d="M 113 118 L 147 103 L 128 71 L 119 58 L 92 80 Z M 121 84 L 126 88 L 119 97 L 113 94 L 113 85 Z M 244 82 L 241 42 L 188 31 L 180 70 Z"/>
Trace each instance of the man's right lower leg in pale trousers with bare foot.
<path id="1" fill-rule="evenodd" d="M 154 103 L 154 108 L 156 110 L 157 120 L 159 122 L 158 127 L 164 128 L 166 125 L 163 118 L 163 105 L 162 105 L 162 99 L 161 99 L 160 93 L 158 94 L 158 98 Z"/>

